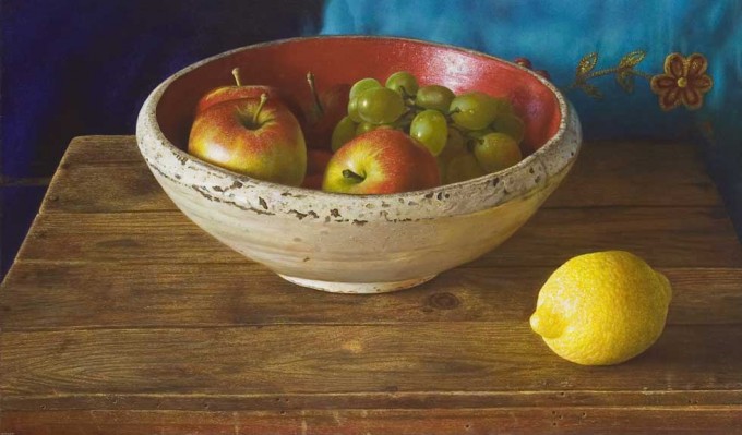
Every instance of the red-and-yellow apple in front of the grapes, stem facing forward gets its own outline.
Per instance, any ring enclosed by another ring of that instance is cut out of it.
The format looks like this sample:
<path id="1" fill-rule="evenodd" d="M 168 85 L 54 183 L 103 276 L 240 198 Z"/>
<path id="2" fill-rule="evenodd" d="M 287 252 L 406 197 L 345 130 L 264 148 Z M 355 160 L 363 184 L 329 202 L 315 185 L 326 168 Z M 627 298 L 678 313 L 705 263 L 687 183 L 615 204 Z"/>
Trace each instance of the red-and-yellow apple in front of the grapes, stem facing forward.
<path id="1" fill-rule="evenodd" d="M 356 136 L 335 152 L 322 189 L 382 194 L 440 184 L 438 161 L 424 145 L 398 130 L 378 129 Z"/>

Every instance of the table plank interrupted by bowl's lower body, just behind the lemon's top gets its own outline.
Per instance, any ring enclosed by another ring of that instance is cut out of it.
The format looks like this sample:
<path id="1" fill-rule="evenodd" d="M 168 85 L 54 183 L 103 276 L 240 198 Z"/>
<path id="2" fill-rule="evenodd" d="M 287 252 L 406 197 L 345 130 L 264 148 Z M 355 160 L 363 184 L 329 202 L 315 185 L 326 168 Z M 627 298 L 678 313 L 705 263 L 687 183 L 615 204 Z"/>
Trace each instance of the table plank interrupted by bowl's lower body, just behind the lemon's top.
<path id="1" fill-rule="evenodd" d="M 572 256 L 625 250 L 655 267 L 740 267 L 742 245 L 722 208 L 541 209 L 471 267 L 553 267 Z M 43 214 L 19 258 L 156 264 L 249 261 L 179 212 Z"/>

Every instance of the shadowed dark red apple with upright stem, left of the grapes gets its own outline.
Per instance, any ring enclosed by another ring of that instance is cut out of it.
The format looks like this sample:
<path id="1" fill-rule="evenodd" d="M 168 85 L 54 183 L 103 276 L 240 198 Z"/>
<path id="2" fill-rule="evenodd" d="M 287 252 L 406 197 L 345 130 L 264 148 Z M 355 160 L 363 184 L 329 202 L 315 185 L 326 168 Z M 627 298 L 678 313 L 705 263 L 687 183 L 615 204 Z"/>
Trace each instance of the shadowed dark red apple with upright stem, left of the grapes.
<path id="1" fill-rule="evenodd" d="M 318 149 L 331 149 L 335 125 L 348 114 L 347 83 L 331 86 L 320 92 L 314 83 L 314 75 L 307 73 L 307 82 L 311 93 L 310 101 L 304 104 L 302 128 L 307 146 Z"/>

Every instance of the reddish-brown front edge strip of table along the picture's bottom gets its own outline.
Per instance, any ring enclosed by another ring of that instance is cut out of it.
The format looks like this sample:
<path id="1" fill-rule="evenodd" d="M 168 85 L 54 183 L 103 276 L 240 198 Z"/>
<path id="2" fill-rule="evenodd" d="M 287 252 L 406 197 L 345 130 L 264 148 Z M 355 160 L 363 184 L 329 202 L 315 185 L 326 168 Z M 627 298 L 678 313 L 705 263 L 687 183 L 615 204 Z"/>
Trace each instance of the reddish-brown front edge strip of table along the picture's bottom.
<path id="1" fill-rule="evenodd" d="M 169 434 L 491 434 L 704 433 L 729 434 L 742 425 L 740 407 L 482 408 L 304 411 L 46 411 L 7 412 L 4 432 L 38 435 Z"/>

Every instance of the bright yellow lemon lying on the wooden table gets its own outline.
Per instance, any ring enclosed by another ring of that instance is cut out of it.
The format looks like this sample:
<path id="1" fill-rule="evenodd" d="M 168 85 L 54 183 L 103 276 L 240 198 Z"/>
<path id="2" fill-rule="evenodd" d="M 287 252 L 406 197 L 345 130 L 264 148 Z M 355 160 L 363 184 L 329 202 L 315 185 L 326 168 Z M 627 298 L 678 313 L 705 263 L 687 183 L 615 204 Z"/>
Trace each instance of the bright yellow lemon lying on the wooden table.
<path id="1" fill-rule="evenodd" d="M 659 338 L 671 298 L 668 279 L 634 254 L 579 255 L 543 285 L 530 327 L 569 361 L 618 364 Z"/>

